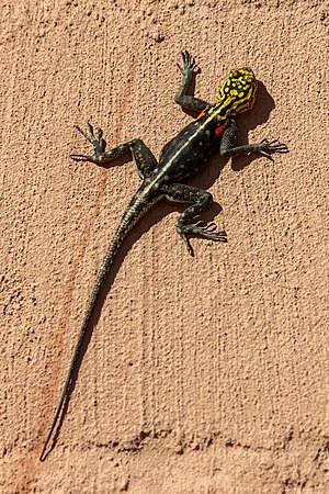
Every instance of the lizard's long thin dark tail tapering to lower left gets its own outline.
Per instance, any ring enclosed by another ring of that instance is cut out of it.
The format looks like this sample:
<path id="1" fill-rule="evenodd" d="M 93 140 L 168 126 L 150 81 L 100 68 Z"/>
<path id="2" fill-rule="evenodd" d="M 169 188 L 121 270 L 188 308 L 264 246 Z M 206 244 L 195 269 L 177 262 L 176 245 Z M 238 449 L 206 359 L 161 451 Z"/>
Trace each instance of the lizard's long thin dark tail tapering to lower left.
<path id="1" fill-rule="evenodd" d="M 111 267 L 113 265 L 115 255 L 118 250 L 118 248 L 122 245 L 123 239 L 126 237 L 127 233 L 133 228 L 133 226 L 138 222 L 138 220 L 146 213 L 146 211 L 158 200 L 158 198 L 149 198 L 147 197 L 147 194 L 144 191 L 143 184 L 140 186 L 140 188 L 138 189 L 138 191 L 136 192 L 136 194 L 133 197 L 133 199 L 131 200 L 128 206 L 126 207 L 121 222 L 118 224 L 118 227 L 113 236 L 113 239 L 111 242 L 111 245 L 109 247 L 109 250 L 103 259 L 103 262 L 100 267 L 100 270 L 98 272 L 98 277 L 97 280 L 94 282 L 93 285 L 93 290 L 91 292 L 88 305 L 87 305 L 87 311 L 84 314 L 84 319 L 83 323 L 81 325 L 80 328 L 80 333 L 79 333 L 79 337 L 76 344 L 76 348 L 73 351 L 73 357 L 67 373 L 67 378 L 63 388 L 63 392 L 60 395 L 60 400 L 48 433 L 48 436 L 44 442 L 44 447 L 42 450 L 42 453 L 39 456 L 39 460 L 43 461 L 45 459 L 45 452 L 46 449 L 48 447 L 48 444 L 50 441 L 50 438 L 53 436 L 53 433 L 58 424 L 61 411 L 64 408 L 64 404 L 68 397 L 68 391 L 72 381 L 72 377 L 81 353 L 81 348 L 82 348 L 82 344 L 87 334 L 87 329 L 89 327 L 90 324 L 90 319 L 92 316 L 92 313 L 94 311 L 97 301 L 99 299 L 99 295 L 101 293 L 104 280 L 106 279 Z"/>

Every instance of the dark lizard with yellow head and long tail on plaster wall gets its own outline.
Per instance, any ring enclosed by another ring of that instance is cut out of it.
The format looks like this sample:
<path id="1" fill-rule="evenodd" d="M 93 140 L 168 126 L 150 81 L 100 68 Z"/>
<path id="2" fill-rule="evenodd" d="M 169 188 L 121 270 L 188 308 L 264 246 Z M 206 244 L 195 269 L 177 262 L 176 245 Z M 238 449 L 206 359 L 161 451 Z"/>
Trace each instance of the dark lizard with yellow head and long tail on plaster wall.
<path id="1" fill-rule="evenodd" d="M 200 214 L 213 202 L 212 194 L 185 184 L 186 179 L 197 175 L 209 157 L 218 151 L 223 157 L 256 153 L 271 160 L 273 160 L 271 154 L 288 151 L 287 146 L 276 139 L 264 138 L 256 144 L 237 146 L 238 126 L 235 116 L 238 113 L 251 110 L 257 94 L 256 76 L 249 67 L 232 69 L 219 89 L 217 101 L 212 104 L 188 94 L 197 65 L 195 58 L 188 50 L 182 52 L 181 56 L 182 65 L 177 65 L 182 75 L 182 83 L 174 100 L 183 109 L 197 113 L 197 117 L 164 145 L 158 161 L 140 138 L 134 138 L 106 151 L 101 128 L 97 128 L 94 132 L 93 126 L 88 123 L 88 132 L 84 132 L 81 127 L 75 125 L 75 128 L 92 145 L 92 153 L 72 154 L 70 155 L 72 159 L 102 165 L 131 153 L 141 183 L 126 206 L 98 271 L 59 404 L 39 457 L 41 461 L 44 460 L 53 433 L 67 403 L 82 343 L 104 280 L 110 272 L 117 250 L 133 226 L 157 201 L 167 199 L 188 204 L 175 221 L 175 229 L 182 237 L 190 255 L 193 256 L 193 248 L 189 239 L 190 234 L 214 242 L 226 242 L 226 233 L 217 231 L 215 223 L 198 220 Z"/>

